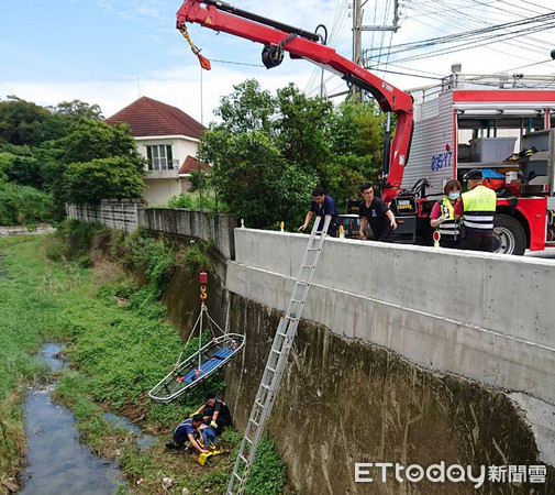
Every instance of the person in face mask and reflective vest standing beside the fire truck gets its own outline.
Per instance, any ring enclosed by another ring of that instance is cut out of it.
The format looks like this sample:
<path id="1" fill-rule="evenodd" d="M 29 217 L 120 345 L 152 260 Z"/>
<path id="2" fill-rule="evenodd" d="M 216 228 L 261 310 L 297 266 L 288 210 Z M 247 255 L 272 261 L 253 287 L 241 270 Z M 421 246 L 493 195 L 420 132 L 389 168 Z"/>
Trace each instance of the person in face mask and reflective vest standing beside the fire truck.
<path id="1" fill-rule="evenodd" d="M 460 220 L 455 219 L 455 207 L 460 201 L 463 186 L 458 180 L 447 180 L 443 193 L 444 198 L 437 201 L 430 213 L 430 226 L 441 234 L 440 246 L 460 249 L 463 232 Z"/>

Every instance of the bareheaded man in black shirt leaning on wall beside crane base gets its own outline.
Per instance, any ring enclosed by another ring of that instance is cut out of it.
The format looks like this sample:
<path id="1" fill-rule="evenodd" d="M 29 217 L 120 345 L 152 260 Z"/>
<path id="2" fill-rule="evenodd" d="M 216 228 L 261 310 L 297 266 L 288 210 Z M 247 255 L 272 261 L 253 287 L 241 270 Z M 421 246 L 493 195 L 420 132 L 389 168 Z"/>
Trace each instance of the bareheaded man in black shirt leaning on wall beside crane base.
<path id="1" fill-rule="evenodd" d="M 362 184 L 360 193 L 364 197 L 358 206 L 358 216 L 362 218 L 358 232 L 360 239 L 366 240 L 364 229 L 369 223 L 374 241 L 395 242 L 393 230 L 397 229 L 397 222 L 393 212 L 380 198 L 374 197 L 374 187 L 370 183 Z"/>

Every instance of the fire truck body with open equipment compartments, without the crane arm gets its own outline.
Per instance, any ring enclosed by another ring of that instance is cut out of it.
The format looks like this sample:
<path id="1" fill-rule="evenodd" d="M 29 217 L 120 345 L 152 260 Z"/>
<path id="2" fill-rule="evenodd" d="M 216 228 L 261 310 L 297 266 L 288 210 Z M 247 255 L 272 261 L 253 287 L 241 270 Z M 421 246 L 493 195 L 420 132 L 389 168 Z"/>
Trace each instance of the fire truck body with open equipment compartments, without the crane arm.
<path id="1" fill-rule="evenodd" d="M 414 234 L 426 231 L 448 179 L 463 184 L 468 169 L 481 168 L 498 195 L 496 251 L 555 246 L 553 78 L 453 73 L 440 85 L 408 92 L 414 98 L 414 134 L 402 189 L 414 194 Z"/>

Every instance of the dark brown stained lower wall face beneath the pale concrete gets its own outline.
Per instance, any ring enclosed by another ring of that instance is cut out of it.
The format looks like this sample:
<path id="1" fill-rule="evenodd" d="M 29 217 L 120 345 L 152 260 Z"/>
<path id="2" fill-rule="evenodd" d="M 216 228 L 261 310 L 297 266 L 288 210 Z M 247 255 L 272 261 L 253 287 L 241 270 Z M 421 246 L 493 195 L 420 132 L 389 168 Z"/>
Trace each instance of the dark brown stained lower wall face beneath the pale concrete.
<path id="1" fill-rule="evenodd" d="M 244 369 L 232 364 L 225 399 L 246 425 L 281 312 L 231 296 L 230 330 L 244 332 Z M 238 361 L 237 361 L 238 363 Z M 269 435 L 300 493 L 470 494 L 555 493 L 555 470 L 544 484 L 355 483 L 355 462 L 392 462 L 424 469 L 536 465 L 539 451 L 522 414 L 501 391 L 417 366 L 377 345 L 342 339 L 301 321 Z M 375 472 L 375 479 L 379 473 Z"/>

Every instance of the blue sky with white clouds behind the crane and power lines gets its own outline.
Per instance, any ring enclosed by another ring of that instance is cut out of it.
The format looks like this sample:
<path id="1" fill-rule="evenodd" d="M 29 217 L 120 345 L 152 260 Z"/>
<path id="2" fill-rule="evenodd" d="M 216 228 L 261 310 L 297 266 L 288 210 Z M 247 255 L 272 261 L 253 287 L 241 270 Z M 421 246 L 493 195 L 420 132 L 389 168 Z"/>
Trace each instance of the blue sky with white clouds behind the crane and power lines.
<path id="1" fill-rule="evenodd" d="M 229 3 L 307 31 L 324 24 L 328 44 L 352 56 L 348 0 Z M 392 0 L 363 3 L 364 25 L 391 24 Z M 262 45 L 191 25 L 192 41 L 212 62 L 211 70 L 202 70 L 175 28 L 180 6 L 171 0 L 0 0 L 0 99 L 16 96 L 45 107 L 78 99 L 99 105 L 110 117 L 146 96 L 208 125 L 220 99 L 247 78 L 271 92 L 292 81 L 309 96 L 319 94 L 321 72 L 309 62 L 286 57 L 268 70 L 260 63 Z M 477 31 L 507 23 L 512 24 Z M 407 90 L 437 82 L 454 63 L 467 74 L 555 75 L 554 31 L 555 0 L 402 0 L 398 31 L 364 32 L 363 50 L 371 72 Z M 445 36 L 451 43 L 440 44 Z M 422 41 L 425 46 L 414 45 Z M 346 88 L 328 74 L 324 82 L 326 95 Z"/>

